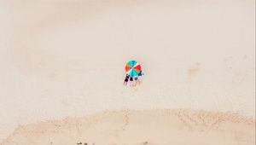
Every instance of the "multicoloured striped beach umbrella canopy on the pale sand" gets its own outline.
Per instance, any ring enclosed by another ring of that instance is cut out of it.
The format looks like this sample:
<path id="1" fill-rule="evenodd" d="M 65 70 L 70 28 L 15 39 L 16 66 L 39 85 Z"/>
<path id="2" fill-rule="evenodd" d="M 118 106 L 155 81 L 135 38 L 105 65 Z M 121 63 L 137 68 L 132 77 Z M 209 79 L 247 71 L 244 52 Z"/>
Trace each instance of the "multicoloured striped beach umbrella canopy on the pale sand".
<path id="1" fill-rule="evenodd" d="M 137 61 L 129 61 L 126 63 L 125 71 L 131 77 L 138 76 L 138 73 L 142 71 L 141 65 Z"/>

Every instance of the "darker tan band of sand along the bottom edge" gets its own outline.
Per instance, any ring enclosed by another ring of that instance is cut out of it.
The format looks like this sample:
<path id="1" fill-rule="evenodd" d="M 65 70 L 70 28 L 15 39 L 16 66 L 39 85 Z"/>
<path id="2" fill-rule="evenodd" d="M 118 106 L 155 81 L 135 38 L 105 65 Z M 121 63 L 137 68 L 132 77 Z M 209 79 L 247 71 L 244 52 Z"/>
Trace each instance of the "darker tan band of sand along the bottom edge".
<path id="1" fill-rule="evenodd" d="M 20 125 L 1 145 L 254 145 L 254 128 L 231 113 L 126 110 Z"/>

